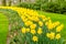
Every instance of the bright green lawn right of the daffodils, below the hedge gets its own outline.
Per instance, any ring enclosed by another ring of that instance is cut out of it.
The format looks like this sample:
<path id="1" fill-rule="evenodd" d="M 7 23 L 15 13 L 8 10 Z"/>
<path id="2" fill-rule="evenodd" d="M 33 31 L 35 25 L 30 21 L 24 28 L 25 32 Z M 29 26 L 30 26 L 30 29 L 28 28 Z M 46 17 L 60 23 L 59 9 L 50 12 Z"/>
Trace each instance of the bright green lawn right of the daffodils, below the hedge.
<path id="1" fill-rule="evenodd" d="M 38 11 L 38 13 L 44 14 L 46 16 L 51 16 L 51 19 L 55 21 L 59 21 L 61 23 L 64 24 L 64 30 L 62 31 L 62 35 L 64 38 L 66 38 L 66 15 L 64 14 L 57 14 L 57 13 L 50 13 L 50 12 L 43 12 Z"/>

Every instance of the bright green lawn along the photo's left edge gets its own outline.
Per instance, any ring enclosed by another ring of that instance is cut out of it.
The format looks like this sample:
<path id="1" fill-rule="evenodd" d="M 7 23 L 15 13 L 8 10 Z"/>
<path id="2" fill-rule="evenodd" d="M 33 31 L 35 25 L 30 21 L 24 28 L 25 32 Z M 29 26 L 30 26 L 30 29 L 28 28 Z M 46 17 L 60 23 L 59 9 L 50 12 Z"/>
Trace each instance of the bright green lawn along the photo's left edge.
<path id="1" fill-rule="evenodd" d="M 7 43 L 7 34 L 8 34 L 8 19 L 3 13 L 0 13 L 0 44 Z"/>

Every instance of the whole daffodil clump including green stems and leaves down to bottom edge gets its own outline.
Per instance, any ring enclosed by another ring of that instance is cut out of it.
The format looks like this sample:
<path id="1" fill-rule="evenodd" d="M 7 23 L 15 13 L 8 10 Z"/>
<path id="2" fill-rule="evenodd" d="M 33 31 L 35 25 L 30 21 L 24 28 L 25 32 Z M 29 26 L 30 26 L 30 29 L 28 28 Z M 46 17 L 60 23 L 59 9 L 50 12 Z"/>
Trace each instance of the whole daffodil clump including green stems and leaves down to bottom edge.
<path id="1" fill-rule="evenodd" d="M 52 22 L 51 18 L 40 15 L 34 10 L 12 7 L 6 7 L 4 9 L 12 9 L 21 16 L 23 44 L 62 44 L 61 31 L 64 24 L 58 21 Z"/>

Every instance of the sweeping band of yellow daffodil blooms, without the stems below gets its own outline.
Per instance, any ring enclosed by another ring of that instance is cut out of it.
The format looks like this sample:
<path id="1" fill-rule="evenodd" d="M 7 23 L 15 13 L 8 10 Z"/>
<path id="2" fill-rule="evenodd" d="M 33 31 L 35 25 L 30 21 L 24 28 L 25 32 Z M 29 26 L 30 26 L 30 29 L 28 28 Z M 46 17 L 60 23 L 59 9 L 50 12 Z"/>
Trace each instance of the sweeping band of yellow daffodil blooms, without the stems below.
<path id="1" fill-rule="evenodd" d="M 47 32 L 46 37 L 50 40 L 59 40 L 61 31 L 64 28 L 64 24 L 57 22 L 52 22 L 51 18 L 46 18 L 45 15 L 40 15 L 35 10 L 30 10 L 25 8 L 15 8 L 15 7 L 0 7 L 2 9 L 11 9 L 19 13 L 21 16 L 24 26 L 21 29 L 22 33 L 31 33 L 33 35 L 32 40 L 37 42 L 40 37 L 37 35 L 44 34 L 44 26 L 46 26 Z"/>

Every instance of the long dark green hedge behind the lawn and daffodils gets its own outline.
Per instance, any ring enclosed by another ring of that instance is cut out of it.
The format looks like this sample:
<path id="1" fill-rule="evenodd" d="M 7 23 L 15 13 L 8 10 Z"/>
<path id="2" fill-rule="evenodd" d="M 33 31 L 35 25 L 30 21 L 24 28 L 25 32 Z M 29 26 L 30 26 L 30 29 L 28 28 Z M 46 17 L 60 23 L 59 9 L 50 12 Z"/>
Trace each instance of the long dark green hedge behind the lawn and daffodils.
<path id="1" fill-rule="evenodd" d="M 66 13 L 66 1 L 48 2 L 47 0 L 37 0 L 34 3 L 22 2 L 18 4 L 18 7 L 42 10 L 42 11 L 54 12 L 54 13 Z"/>

